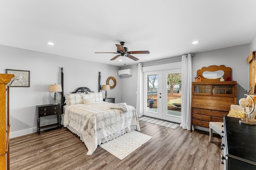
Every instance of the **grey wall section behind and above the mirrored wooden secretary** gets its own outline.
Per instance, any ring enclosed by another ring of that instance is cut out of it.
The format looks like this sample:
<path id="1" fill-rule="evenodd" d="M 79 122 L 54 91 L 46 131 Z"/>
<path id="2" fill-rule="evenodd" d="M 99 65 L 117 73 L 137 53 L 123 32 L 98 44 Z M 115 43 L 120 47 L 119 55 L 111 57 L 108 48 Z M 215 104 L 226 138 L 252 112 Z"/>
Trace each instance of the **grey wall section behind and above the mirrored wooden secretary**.
<path id="1" fill-rule="evenodd" d="M 237 100 L 244 97 L 249 89 L 249 65 L 246 58 L 250 54 L 249 44 L 194 53 L 192 57 L 192 76 L 204 66 L 225 65 L 232 68 L 232 80 L 237 81 Z"/>

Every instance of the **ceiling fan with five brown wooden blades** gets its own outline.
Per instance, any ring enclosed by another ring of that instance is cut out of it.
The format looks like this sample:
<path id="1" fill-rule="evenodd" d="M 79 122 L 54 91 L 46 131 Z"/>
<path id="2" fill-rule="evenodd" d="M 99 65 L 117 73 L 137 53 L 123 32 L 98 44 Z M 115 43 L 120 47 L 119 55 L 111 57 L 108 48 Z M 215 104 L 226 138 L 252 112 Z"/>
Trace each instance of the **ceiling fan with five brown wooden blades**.
<path id="1" fill-rule="evenodd" d="M 116 44 L 117 49 L 116 49 L 116 52 L 114 52 L 113 54 L 118 54 L 118 55 L 116 55 L 115 57 L 113 57 L 110 60 L 115 60 L 120 56 L 125 56 L 134 61 L 138 61 L 139 59 L 132 56 L 131 54 L 149 54 L 149 51 L 128 51 L 128 48 L 124 47 L 124 43 L 125 42 L 121 41 L 120 45 Z M 112 52 L 95 52 L 95 53 L 112 53 Z"/>

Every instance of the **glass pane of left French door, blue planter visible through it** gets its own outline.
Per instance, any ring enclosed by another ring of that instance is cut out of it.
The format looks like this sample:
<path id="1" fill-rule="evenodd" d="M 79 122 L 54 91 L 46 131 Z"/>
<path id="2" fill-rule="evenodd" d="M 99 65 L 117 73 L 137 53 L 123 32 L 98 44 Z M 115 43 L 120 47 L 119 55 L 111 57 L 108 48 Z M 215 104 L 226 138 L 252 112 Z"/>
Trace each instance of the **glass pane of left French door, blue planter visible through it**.
<path id="1" fill-rule="evenodd" d="M 147 111 L 157 112 L 157 92 L 158 92 L 158 75 L 148 75 L 147 76 L 147 98 L 148 98 L 148 106 Z"/>

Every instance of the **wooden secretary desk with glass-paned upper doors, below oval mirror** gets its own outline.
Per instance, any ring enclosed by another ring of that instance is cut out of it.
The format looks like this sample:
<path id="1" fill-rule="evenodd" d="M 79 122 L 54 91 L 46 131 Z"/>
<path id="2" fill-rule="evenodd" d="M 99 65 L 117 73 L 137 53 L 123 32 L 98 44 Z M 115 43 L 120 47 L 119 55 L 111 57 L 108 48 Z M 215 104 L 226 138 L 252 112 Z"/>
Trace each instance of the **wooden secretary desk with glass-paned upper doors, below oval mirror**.
<path id="1" fill-rule="evenodd" d="M 191 129 L 209 128 L 210 121 L 223 122 L 230 105 L 236 104 L 236 81 L 192 82 L 191 100 Z"/>

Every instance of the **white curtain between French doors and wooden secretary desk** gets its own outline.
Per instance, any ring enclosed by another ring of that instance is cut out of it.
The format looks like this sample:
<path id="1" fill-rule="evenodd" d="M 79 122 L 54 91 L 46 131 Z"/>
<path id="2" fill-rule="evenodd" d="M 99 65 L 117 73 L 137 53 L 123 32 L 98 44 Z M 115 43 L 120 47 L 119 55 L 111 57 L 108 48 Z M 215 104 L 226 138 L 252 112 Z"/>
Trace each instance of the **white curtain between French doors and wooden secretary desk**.
<path id="1" fill-rule="evenodd" d="M 190 110 L 191 110 L 191 86 L 192 86 L 192 62 L 191 54 L 182 55 L 182 95 L 181 95 L 181 124 L 183 129 L 190 130 Z"/>

